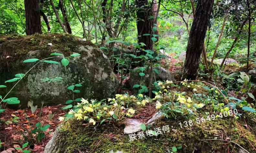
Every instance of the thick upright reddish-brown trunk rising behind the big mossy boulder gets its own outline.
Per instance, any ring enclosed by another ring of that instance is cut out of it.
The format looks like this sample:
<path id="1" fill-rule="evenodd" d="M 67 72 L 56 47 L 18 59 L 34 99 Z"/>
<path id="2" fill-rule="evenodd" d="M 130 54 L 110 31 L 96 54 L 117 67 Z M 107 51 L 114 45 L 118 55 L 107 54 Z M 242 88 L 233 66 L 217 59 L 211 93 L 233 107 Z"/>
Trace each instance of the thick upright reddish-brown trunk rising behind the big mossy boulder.
<path id="1" fill-rule="evenodd" d="M 26 34 L 42 34 L 39 0 L 24 0 L 26 15 Z"/>

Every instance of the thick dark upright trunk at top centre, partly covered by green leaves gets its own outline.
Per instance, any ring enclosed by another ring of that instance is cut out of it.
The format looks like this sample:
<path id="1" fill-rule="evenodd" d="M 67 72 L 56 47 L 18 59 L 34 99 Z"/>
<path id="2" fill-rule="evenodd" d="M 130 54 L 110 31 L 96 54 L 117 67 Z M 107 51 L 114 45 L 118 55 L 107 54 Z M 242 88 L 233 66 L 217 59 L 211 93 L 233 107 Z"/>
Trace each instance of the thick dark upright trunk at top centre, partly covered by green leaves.
<path id="1" fill-rule="evenodd" d="M 137 31 L 139 43 L 144 43 L 144 49 L 153 50 L 153 42 L 151 36 L 143 36 L 144 34 L 152 34 L 154 19 L 149 19 L 152 16 L 151 6 L 148 0 L 136 0 L 137 7 Z M 144 54 L 145 52 L 141 52 Z"/>

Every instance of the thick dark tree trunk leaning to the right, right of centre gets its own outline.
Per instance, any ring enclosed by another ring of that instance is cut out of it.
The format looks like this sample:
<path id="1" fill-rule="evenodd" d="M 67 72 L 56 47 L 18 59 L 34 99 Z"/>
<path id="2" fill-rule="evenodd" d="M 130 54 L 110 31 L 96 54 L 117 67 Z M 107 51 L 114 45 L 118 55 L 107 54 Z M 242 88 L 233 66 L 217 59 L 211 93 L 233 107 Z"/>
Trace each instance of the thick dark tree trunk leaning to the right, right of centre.
<path id="1" fill-rule="evenodd" d="M 191 27 L 182 79 L 195 80 L 214 0 L 198 0 Z"/>

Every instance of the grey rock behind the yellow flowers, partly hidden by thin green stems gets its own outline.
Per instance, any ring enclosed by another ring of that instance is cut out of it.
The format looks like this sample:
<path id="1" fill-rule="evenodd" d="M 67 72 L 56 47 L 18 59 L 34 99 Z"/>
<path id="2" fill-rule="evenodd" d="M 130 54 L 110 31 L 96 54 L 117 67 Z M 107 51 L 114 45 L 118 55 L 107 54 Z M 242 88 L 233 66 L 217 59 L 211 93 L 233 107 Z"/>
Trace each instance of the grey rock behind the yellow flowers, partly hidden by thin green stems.
<path id="1" fill-rule="evenodd" d="M 174 77 L 172 75 L 172 73 L 168 70 L 165 70 L 162 67 L 158 67 L 156 68 L 160 73 L 156 74 L 154 72 L 153 74 L 153 82 L 156 81 L 174 81 Z M 133 70 L 130 71 L 130 86 L 131 88 L 135 85 L 135 84 L 140 84 L 141 81 L 141 77 L 139 76 L 139 72 L 140 71 L 140 67 L 134 68 Z M 149 86 L 149 82 L 150 82 L 150 70 L 145 70 L 143 71 L 145 73 L 145 76 L 142 78 L 142 84 Z M 134 91 L 136 92 L 136 91 Z"/>

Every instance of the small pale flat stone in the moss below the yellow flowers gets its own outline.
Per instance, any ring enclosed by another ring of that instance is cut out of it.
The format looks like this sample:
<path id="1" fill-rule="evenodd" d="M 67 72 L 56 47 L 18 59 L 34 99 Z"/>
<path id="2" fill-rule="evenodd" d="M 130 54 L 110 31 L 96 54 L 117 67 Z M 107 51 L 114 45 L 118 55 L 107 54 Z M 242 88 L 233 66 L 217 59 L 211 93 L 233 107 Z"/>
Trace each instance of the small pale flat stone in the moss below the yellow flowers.
<path id="1" fill-rule="evenodd" d="M 126 120 L 126 125 L 124 129 L 124 134 L 136 133 L 141 130 L 140 125 L 143 124 L 139 119 L 129 118 Z"/>

